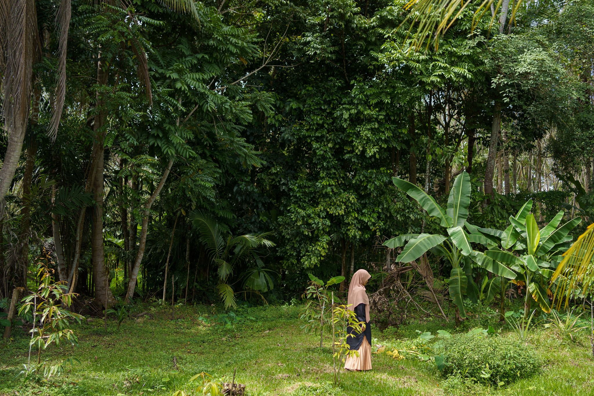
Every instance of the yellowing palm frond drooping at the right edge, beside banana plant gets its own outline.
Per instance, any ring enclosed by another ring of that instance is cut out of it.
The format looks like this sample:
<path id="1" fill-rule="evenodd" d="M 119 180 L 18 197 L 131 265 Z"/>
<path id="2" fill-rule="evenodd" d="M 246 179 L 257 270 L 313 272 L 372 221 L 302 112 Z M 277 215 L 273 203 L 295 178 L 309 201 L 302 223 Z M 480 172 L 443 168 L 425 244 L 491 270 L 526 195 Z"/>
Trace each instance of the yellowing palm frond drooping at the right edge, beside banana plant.
<path id="1" fill-rule="evenodd" d="M 574 290 L 581 288 L 582 293 L 594 292 L 594 224 L 590 224 L 584 232 L 563 254 L 564 258 L 551 277 L 551 289 L 554 285 L 553 302 L 557 300 L 557 309 L 565 297 L 565 308 L 569 304 Z"/>

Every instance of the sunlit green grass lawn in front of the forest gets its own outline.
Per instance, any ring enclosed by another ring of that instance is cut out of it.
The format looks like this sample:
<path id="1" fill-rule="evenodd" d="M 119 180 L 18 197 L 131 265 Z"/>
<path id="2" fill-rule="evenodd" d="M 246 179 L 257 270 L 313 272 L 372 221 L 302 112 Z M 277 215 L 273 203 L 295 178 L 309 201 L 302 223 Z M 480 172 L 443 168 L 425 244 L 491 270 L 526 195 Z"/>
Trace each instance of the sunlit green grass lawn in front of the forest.
<path id="1" fill-rule="evenodd" d="M 172 395 L 177 389 L 189 391 L 188 379 L 203 371 L 229 376 L 230 382 L 233 369 L 237 369 L 236 382 L 247 385 L 248 395 L 594 394 L 594 362 L 585 337 L 584 346 L 580 346 L 561 340 L 551 330 L 536 331 L 529 342 L 544 360 L 541 372 L 502 389 L 445 381 L 419 359 L 396 360 L 384 353 L 373 355 L 371 372 L 342 372 L 339 388 L 332 390 L 326 385 L 333 381 L 330 343 L 326 339 L 327 347 L 320 350 L 319 336 L 303 334 L 299 307 L 239 309 L 236 313 L 243 323 L 234 329 L 198 319 L 209 315 L 212 321 L 217 313 L 214 309 L 176 307 L 172 321 L 170 308 L 151 306 L 150 318 L 126 319 L 119 331 L 114 321 L 109 322 L 107 332 L 103 319 L 84 322 L 76 328 L 78 347 L 43 351 L 42 360 L 74 356 L 81 361 L 49 381 L 15 378 L 29 352 L 26 334 L 17 329 L 10 343 L 0 349 L 0 396 Z M 408 325 L 396 334 L 372 329 L 372 334 L 381 343 L 415 334 L 415 329 L 456 331 L 441 325 Z M 515 337 L 505 331 L 501 336 Z M 35 359 L 33 351 L 31 360 Z M 315 390 L 312 384 L 323 388 Z"/>

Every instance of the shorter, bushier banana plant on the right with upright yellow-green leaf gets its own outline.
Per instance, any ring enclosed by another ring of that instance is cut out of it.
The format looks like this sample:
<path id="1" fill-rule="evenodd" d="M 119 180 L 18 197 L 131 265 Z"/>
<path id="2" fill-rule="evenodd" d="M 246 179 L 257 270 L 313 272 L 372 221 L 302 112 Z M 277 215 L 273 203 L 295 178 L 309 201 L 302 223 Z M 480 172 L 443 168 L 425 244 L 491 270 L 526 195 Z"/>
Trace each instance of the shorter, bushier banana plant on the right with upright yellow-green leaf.
<path id="1" fill-rule="evenodd" d="M 481 243 L 487 248 L 485 252 L 473 251 L 470 258 L 485 268 L 509 267 L 507 269 L 514 274 L 512 282 L 526 286 L 525 320 L 530 312 L 530 296 L 543 311 L 551 312 L 547 284 L 562 260 L 561 255 L 570 247 L 573 236 L 568 233 L 582 221 L 581 217 L 575 217 L 558 227 L 564 215 L 564 211 L 559 211 L 545 227 L 539 229 L 534 215 L 530 213 L 532 204 L 530 199 L 516 216 L 510 216 L 510 226 L 503 231 L 465 224 L 471 242 Z"/>

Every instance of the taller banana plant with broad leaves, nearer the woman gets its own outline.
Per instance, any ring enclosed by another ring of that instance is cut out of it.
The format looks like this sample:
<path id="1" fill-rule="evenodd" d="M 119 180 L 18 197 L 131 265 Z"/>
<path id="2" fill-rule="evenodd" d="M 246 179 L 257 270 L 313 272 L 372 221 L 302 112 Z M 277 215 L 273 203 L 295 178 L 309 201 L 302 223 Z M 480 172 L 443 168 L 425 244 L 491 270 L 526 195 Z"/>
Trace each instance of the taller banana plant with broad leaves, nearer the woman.
<path id="1" fill-rule="evenodd" d="M 398 248 L 406 243 L 402 253 L 396 258 L 396 261 L 399 262 L 414 261 L 427 251 L 444 256 L 452 267 L 448 281 L 450 298 L 456 305 L 460 318 L 466 318 L 462 303 L 464 296 L 466 295 L 472 302 L 478 303 L 478 287 L 470 276 L 472 264 L 469 255 L 473 252 L 470 245 L 472 239 L 469 239 L 470 236 L 462 228 L 466 223 L 470 206 L 470 191 L 472 189 L 470 176 L 466 172 L 457 176 L 450 190 L 445 209 L 418 186 L 398 178 L 392 178 L 392 181 L 399 189 L 416 199 L 429 216 L 437 217 L 444 233 L 443 235 L 426 233 L 399 235 L 387 240 L 384 245 L 388 248 Z M 497 267 L 492 269 L 498 270 Z M 509 273 L 511 274 L 511 271 Z"/>

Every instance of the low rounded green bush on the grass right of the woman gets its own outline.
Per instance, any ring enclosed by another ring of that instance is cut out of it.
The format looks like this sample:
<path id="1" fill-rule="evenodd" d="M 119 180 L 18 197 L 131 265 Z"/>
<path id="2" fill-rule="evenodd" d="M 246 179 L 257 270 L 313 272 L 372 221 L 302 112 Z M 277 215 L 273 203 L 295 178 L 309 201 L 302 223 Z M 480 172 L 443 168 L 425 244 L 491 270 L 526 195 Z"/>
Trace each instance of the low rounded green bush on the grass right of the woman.
<path id="1" fill-rule="evenodd" d="M 443 375 L 462 375 L 482 383 L 509 384 L 542 365 L 532 347 L 512 338 L 468 333 L 448 338 L 443 347 Z"/>

